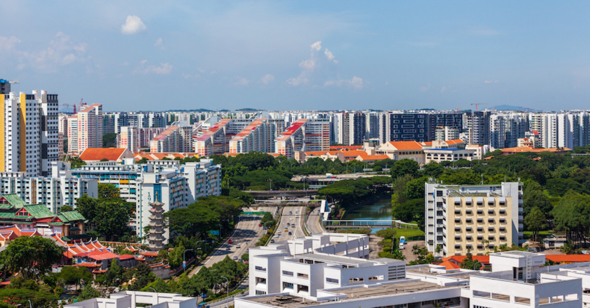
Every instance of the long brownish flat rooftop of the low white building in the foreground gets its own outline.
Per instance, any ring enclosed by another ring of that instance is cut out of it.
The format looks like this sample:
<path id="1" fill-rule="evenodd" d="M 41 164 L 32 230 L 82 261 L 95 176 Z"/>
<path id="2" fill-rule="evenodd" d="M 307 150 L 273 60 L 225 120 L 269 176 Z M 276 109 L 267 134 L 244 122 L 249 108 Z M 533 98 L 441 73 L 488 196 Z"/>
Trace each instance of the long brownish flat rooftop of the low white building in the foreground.
<path id="1" fill-rule="evenodd" d="M 453 286 L 457 287 L 457 286 Z M 366 297 L 376 297 L 376 296 L 388 296 L 394 294 L 402 294 L 402 293 L 414 293 L 414 292 L 421 292 L 427 290 L 437 290 L 437 289 L 447 289 L 450 287 L 439 286 L 435 283 L 424 282 L 424 281 L 408 281 L 408 282 L 399 282 L 399 283 L 392 283 L 392 284 L 382 284 L 380 286 L 373 286 L 373 287 L 366 287 L 366 286 L 358 286 L 358 287 L 351 287 L 348 289 L 340 289 L 340 290 L 333 290 L 329 292 L 333 292 L 335 294 L 346 294 L 346 299 L 341 299 L 341 301 L 346 300 L 354 300 L 354 299 L 362 299 Z M 324 302 L 314 302 L 312 300 L 306 300 L 301 297 L 291 296 L 291 295 L 275 295 L 275 296 L 265 296 L 265 297 L 255 297 L 252 299 L 246 299 L 251 302 L 267 304 L 270 306 L 278 306 L 278 307 L 286 307 L 286 308 L 293 308 L 293 307 L 301 307 L 301 306 L 309 306 L 309 305 L 316 305 L 321 303 L 328 303 L 327 301 Z"/>

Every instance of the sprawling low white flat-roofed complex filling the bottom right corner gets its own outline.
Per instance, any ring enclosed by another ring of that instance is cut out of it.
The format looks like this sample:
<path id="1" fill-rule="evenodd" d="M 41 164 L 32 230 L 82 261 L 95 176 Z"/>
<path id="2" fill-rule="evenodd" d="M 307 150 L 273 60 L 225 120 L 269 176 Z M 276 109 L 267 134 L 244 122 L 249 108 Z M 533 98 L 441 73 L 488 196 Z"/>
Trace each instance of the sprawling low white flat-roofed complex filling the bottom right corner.
<path id="1" fill-rule="evenodd" d="M 545 263 L 543 254 L 508 251 L 490 254 L 490 263 L 491 272 L 447 270 L 433 264 L 408 266 L 406 279 L 363 281 L 348 286 L 325 285 L 323 289 L 315 290 L 315 296 L 285 290 L 235 297 L 234 304 L 236 308 L 590 306 L 590 296 L 586 296 L 590 290 L 590 262 L 542 266 Z M 293 268 L 293 271 L 297 270 Z"/>

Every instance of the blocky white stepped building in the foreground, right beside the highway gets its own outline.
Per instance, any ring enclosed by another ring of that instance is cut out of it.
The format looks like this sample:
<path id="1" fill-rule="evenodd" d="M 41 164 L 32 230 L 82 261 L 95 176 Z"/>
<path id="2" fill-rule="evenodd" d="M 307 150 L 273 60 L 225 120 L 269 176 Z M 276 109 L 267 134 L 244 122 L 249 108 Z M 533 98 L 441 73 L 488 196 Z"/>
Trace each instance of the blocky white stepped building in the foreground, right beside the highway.
<path id="1" fill-rule="evenodd" d="M 367 260 L 364 234 L 314 234 L 250 249 L 250 295 L 289 293 L 313 298 L 324 287 L 404 279 L 404 261 Z"/>

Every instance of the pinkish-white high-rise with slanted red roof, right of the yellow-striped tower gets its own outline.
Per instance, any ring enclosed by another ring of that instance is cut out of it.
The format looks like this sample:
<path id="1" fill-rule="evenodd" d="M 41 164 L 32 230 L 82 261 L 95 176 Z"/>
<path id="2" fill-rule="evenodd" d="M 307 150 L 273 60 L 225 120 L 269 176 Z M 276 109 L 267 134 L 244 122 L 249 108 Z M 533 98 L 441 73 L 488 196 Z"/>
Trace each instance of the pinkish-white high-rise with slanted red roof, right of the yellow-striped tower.
<path id="1" fill-rule="evenodd" d="M 92 104 L 68 117 L 68 151 L 103 147 L 103 105 Z"/>

